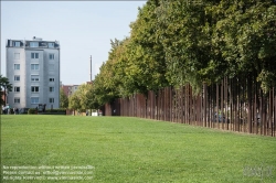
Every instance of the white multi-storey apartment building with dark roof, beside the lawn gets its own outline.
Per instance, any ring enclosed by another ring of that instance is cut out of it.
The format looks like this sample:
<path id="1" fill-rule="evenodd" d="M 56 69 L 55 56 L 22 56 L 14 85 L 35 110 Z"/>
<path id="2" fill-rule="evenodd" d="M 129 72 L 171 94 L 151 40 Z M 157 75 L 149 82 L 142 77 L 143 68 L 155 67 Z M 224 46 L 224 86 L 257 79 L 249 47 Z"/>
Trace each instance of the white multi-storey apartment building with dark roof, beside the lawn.
<path id="1" fill-rule="evenodd" d="M 60 107 L 60 43 L 57 41 L 7 40 L 7 77 L 13 89 L 11 108 Z"/>

